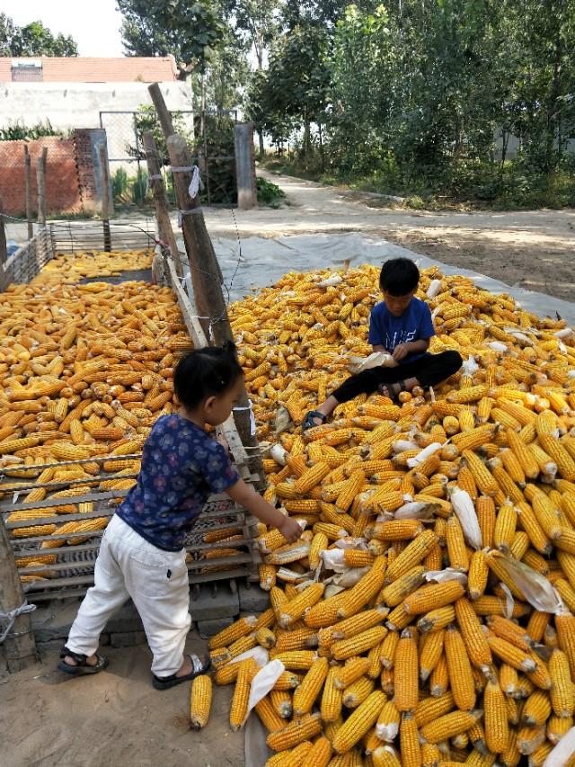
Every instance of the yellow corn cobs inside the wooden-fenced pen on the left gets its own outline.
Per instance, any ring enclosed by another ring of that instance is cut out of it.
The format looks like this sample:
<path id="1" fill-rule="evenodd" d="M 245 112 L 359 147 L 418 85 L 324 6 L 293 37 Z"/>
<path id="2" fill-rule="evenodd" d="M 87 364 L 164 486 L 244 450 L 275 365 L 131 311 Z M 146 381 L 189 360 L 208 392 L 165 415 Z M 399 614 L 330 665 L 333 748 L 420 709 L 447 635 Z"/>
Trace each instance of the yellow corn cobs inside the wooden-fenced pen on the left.
<path id="1" fill-rule="evenodd" d="M 77 280 L 94 261 L 100 268 L 110 257 L 112 271 L 149 261 L 146 253 L 125 254 L 123 262 L 119 254 L 76 254 L 74 270 L 69 257 L 49 265 Z M 13 285 L 0 297 L 0 465 L 12 477 L 58 483 L 57 492 L 31 490 L 22 498 L 26 503 L 90 493 L 98 487 L 90 480 L 102 468 L 117 477 L 102 481 L 100 489 L 128 489 L 135 479 L 123 475 L 137 473 L 138 460 L 90 459 L 138 453 L 155 419 L 173 411 L 174 356 L 190 347 L 180 309 L 171 290 L 145 282 L 72 286 L 42 284 L 40 278 L 38 284 Z M 62 463 L 79 459 L 84 463 Z M 26 469 L 38 464 L 54 468 Z M 61 483 L 83 478 L 89 484 L 62 489 Z M 4 482 L 0 492 L 15 488 Z M 57 548 L 85 540 L 72 533 L 105 526 L 107 518 L 59 523 L 63 514 L 92 510 L 89 503 L 54 505 L 14 512 L 8 522 L 54 517 L 52 524 L 16 528 L 13 535 L 69 532 L 67 540 L 42 544 Z M 20 565 L 49 565 L 55 558 L 39 552 Z M 24 581 L 38 578 L 22 575 Z"/>

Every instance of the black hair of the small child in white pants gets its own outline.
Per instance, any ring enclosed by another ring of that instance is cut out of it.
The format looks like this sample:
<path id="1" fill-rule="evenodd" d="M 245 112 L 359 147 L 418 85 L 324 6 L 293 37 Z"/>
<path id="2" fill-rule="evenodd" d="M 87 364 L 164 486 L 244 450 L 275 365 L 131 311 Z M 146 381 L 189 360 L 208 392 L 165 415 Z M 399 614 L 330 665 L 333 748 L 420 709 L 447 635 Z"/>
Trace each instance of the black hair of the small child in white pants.
<path id="1" fill-rule="evenodd" d="M 183 354 L 173 371 L 173 390 L 183 406 L 193 408 L 234 386 L 242 375 L 235 344 L 228 341 Z"/>

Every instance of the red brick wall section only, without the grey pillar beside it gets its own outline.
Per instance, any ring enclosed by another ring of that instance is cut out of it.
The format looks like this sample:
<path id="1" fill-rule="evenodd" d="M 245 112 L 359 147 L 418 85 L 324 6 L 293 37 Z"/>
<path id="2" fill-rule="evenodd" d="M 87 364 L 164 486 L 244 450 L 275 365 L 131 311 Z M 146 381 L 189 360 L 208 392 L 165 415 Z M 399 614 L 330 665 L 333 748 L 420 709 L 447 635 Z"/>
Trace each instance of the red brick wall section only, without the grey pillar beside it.
<path id="1" fill-rule="evenodd" d="M 0 198 L 4 213 L 22 216 L 26 212 L 24 180 L 25 141 L 0 141 Z M 31 156 L 32 210 L 37 210 L 36 161 L 47 147 L 46 204 L 49 213 L 82 210 L 75 161 L 74 139 L 47 136 L 28 141 Z"/>

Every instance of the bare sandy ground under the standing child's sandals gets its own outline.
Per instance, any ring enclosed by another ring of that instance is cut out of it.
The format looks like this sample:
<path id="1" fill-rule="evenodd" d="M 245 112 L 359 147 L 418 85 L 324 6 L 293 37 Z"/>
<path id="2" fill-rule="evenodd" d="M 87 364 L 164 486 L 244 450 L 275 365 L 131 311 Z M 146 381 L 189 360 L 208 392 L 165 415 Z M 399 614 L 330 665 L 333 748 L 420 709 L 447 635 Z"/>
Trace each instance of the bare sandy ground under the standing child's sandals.
<path id="1" fill-rule="evenodd" d="M 188 649 L 205 644 L 192 638 Z M 102 653 L 110 665 L 93 676 L 57 671 L 57 651 L 0 675 L 3 767 L 243 765 L 243 733 L 228 725 L 231 687 L 215 688 L 208 726 L 196 732 L 188 724 L 190 682 L 155 691 L 145 646 Z"/>

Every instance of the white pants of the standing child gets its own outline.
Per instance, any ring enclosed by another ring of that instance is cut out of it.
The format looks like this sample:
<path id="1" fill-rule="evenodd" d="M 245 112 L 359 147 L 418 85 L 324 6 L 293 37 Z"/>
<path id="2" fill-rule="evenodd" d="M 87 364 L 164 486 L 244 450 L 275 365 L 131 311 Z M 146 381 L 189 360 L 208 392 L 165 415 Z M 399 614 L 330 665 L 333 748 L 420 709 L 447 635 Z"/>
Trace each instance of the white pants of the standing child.
<path id="1" fill-rule="evenodd" d="M 152 673 L 176 673 L 191 622 L 185 557 L 183 549 L 156 548 L 115 514 L 102 537 L 93 587 L 80 605 L 66 647 L 92 656 L 106 623 L 131 597 L 154 656 Z"/>

